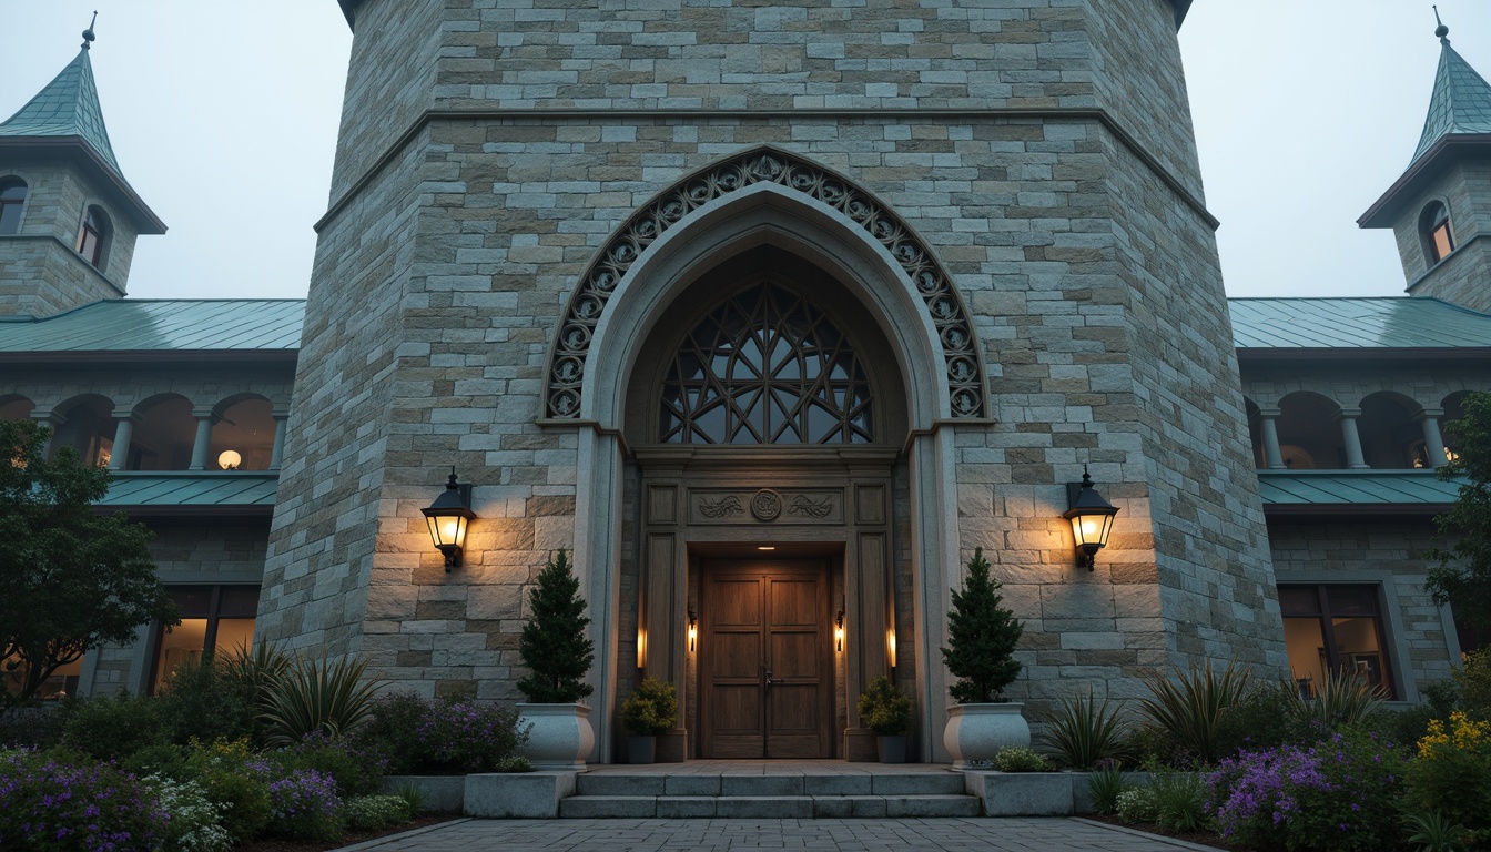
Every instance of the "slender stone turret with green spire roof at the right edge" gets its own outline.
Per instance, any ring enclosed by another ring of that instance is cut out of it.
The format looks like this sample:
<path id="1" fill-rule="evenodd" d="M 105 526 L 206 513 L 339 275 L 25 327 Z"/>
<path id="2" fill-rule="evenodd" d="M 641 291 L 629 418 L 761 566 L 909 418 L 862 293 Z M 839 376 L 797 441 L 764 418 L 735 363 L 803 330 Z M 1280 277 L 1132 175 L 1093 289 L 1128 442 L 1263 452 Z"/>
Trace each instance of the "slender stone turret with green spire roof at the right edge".
<path id="1" fill-rule="evenodd" d="M 1491 312 L 1491 84 L 1439 36 L 1439 72 L 1413 160 L 1357 219 L 1393 228 L 1410 295 Z"/>

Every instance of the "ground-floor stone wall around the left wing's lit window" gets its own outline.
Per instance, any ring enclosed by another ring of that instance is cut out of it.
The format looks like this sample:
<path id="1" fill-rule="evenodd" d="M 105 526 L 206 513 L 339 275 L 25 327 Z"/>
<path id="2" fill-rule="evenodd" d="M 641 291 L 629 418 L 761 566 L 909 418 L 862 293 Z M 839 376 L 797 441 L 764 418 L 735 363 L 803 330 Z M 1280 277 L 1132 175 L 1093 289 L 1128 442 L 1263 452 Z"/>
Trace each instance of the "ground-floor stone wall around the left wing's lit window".
<path id="1" fill-rule="evenodd" d="M 151 524 L 155 540 L 151 558 L 166 585 L 256 585 L 264 574 L 268 522 L 189 522 Z M 136 692 L 151 671 L 152 628 L 142 630 L 134 645 L 107 645 L 94 651 L 94 676 L 82 689 L 91 695 Z M 258 642 L 258 634 L 255 634 Z"/>

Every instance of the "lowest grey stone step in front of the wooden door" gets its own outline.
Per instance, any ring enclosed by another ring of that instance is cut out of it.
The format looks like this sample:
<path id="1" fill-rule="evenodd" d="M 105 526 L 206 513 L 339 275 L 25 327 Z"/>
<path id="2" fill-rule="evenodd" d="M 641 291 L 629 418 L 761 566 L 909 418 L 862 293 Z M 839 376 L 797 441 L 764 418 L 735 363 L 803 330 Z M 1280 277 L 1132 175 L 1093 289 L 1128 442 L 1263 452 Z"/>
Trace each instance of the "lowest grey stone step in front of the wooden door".
<path id="1" fill-rule="evenodd" d="M 581 776 L 583 777 L 583 776 Z M 978 816 L 978 798 L 953 794 L 905 795 L 571 795 L 559 801 L 565 819 L 813 819 L 886 816 Z"/>

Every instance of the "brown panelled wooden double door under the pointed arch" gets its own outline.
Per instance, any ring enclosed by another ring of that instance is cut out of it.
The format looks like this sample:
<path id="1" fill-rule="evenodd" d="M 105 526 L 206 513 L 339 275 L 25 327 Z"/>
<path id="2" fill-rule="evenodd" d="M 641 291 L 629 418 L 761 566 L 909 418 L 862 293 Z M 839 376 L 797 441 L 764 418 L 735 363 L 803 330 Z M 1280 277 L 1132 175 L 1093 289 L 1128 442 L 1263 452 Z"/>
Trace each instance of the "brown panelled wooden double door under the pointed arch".
<path id="1" fill-rule="evenodd" d="M 828 561 L 701 567 L 699 757 L 833 757 Z"/>

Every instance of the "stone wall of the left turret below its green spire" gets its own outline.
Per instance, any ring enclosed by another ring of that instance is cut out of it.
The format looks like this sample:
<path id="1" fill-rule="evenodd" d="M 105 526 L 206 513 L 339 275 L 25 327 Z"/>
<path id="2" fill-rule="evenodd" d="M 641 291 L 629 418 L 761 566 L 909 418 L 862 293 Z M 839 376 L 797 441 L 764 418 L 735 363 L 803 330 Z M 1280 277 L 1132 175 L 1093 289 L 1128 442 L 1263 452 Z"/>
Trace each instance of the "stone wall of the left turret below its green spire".
<path id="1" fill-rule="evenodd" d="M 66 164 L 7 161 L 0 166 L 0 178 L 7 176 L 27 182 L 27 200 L 19 233 L 0 236 L 0 315 L 54 316 L 103 298 L 121 298 L 134 258 L 136 231 L 130 219 Z M 89 204 L 103 207 L 113 225 L 101 272 L 73 249 Z"/>

